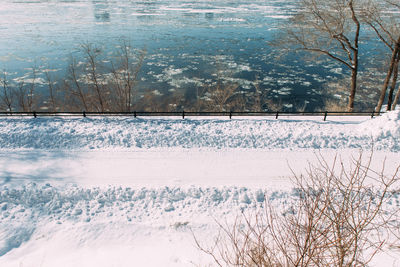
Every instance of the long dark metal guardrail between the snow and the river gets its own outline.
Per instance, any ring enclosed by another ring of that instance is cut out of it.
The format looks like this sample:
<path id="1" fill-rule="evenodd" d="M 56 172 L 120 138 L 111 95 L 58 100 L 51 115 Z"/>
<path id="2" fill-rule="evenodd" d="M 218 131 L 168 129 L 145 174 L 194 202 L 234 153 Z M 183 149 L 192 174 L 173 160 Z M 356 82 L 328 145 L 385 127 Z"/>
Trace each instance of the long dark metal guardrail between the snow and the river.
<path id="1" fill-rule="evenodd" d="M 147 117 L 147 116 L 179 116 L 184 119 L 190 116 L 224 116 L 232 119 L 232 117 L 240 116 L 323 116 L 324 121 L 328 116 L 379 116 L 384 112 L 348 112 L 348 111 L 324 111 L 324 112 L 285 112 L 285 111 L 250 111 L 250 112 L 237 112 L 237 111 L 224 111 L 224 112 L 195 112 L 195 111 L 172 111 L 172 112 L 158 112 L 158 111 L 132 111 L 132 112 L 47 112 L 47 111 L 32 111 L 32 112 L 0 112 L 0 117 L 22 116 L 22 117 L 68 117 L 68 116 L 133 116 L 133 117 Z"/>

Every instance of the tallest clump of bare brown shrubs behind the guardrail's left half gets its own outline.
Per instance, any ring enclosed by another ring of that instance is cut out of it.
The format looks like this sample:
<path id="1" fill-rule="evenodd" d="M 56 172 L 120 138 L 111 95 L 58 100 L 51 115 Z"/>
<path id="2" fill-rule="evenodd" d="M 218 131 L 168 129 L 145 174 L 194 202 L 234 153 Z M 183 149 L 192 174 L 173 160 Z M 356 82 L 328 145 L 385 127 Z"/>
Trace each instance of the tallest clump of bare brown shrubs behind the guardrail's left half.
<path id="1" fill-rule="evenodd" d="M 131 111 L 138 101 L 136 83 L 145 51 L 138 53 L 127 41 L 121 41 L 117 53 L 105 60 L 101 48 L 83 44 L 84 62 L 72 57 L 64 91 L 68 107 L 86 111 Z M 108 62 L 106 64 L 105 62 Z"/>

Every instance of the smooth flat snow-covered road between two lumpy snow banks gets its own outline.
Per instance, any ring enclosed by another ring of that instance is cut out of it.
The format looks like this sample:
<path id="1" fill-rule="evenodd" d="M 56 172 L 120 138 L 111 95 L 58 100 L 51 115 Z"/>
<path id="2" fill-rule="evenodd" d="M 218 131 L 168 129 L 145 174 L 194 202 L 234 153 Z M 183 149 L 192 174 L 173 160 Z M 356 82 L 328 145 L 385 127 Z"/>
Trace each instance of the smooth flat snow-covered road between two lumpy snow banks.
<path id="1" fill-rule="evenodd" d="M 368 151 L 366 151 L 368 154 Z M 353 150 L 159 150 L 0 152 L 0 185 L 29 182 L 85 187 L 121 185 L 131 188 L 160 186 L 242 186 L 287 188 L 289 178 L 303 172 L 318 154 L 328 161 L 335 155 L 357 157 Z M 388 172 L 400 162 L 400 153 L 376 151 L 374 169 L 386 159 Z M 291 170 L 292 169 L 292 170 Z"/>

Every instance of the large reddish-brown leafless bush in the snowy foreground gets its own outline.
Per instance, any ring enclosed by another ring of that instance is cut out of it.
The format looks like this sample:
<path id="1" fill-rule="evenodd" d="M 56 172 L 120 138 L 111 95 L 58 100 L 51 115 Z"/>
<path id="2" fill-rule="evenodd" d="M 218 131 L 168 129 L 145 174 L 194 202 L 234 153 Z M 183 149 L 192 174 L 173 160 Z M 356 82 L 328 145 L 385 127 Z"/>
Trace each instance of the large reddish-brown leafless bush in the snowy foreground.
<path id="1" fill-rule="evenodd" d="M 399 181 L 364 164 L 362 153 L 350 170 L 322 156 L 306 175 L 295 175 L 295 194 L 283 209 L 266 201 L 256 214 L 219 223 L 212 247 L 197 246 L 218 266 L 365 266 L 390 245 L 386 203 Z"/>

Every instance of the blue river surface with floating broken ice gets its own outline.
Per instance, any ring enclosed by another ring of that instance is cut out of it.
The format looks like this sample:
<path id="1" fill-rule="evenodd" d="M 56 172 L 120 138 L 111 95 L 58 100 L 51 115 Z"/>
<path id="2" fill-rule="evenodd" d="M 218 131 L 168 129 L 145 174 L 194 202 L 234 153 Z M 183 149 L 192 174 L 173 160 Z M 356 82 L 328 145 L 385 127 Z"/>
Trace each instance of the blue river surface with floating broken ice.
<path id="1" fill-rule="evenodd" d="M 33 66 L 62 73 L 80 44 L 112 52 L 124 39 L 147 50 L 143 89 L 190 95 L 222 78 L 249 92 L 257 82 L 287 108 L 315 106 L 321 82 L 341 68 L 277 62 L 268 44 L 295 1 L 1 0 L 0 68 L 13 77 Z"/>

